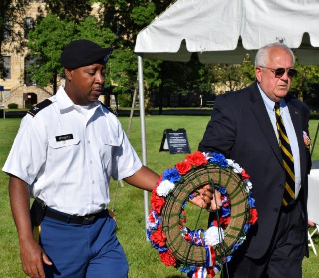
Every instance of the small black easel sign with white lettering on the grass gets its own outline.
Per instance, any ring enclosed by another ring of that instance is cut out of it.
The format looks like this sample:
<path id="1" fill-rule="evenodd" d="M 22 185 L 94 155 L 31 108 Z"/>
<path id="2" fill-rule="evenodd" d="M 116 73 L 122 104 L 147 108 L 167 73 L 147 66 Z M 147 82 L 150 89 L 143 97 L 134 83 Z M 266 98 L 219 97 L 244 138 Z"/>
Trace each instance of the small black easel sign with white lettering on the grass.
<path id="1" fill-rule="evenodd" d="M 190 153 L 185 129 L 165 129 L 160 144 L 160 151 L 169 151 L 170 154 Z"/>

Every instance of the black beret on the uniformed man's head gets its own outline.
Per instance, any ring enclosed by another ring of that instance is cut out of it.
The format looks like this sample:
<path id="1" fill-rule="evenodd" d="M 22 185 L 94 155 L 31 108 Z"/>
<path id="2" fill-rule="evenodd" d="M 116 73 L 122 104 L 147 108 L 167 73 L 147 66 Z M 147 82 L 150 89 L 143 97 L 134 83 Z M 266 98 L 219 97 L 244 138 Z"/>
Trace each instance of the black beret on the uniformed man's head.
<path id="1" fill-rule="evenodd" d="M 63 67 L 69 69 L 76 69 L 95 63 L 105 64 L 112 50 L 112 48 L 102 48 L 90 40 L 74 40 L 62 51 L 60 62 Z"/>

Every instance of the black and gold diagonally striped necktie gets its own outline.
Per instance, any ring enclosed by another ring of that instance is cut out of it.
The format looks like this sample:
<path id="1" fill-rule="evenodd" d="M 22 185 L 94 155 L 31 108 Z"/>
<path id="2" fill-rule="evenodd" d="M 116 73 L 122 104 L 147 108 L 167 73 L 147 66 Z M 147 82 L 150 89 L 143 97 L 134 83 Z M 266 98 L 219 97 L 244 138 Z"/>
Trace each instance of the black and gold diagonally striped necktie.
<path id="1" fill-rule="evenodd" d="M 294 158 L 291 152 L 289 139 L 283 119 L 280 116 L 279 103 L 275 103 L 276 125 L 278 130 L 279 146 L 283 157 L 284 168 L 286 172 L 286 184 L 283 197 L 283 205 L 287 206 L 295 202 L 295 171 Z"/>

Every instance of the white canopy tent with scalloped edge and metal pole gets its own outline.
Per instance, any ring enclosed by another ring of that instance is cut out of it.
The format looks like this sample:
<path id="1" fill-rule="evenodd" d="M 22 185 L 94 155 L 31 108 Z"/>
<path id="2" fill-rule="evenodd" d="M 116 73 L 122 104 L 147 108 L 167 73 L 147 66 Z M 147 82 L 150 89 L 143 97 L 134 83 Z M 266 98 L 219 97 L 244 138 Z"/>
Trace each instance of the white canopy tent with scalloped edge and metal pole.
<path id="1" fill-rule="evenodd" d="M 282 42 L 298 62 L 319 65 L 319 0 L 177 0 L 137 36 L 142 161 L 146 161 L 143 58 L 240 64 Z M 145 219 L 148 194 L 144 192 Z"/>

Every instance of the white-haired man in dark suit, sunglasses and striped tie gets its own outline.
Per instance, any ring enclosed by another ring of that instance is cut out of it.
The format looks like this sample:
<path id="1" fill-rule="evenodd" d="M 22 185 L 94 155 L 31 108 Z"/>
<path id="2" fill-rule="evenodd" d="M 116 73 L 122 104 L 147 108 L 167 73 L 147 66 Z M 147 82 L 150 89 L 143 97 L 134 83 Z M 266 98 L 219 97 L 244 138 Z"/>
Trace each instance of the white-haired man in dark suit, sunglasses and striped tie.
<path id="1" fill-rule="evenodd" d="M 250 174 L 253 184 L 258 221 L 228 263 L 229 277 L 302 276 L 302 260 L 308 256 L 307 174 L 311 160 L 309 108 L 288 95 L 297 74 L 294 62 L 293 52 L 284 44 L 273 43 L 259 49 L 256 81 L 216 98 L 199 144 L 200 151 L 219 152 L 235 160 Z M 276 103 L 284 133 L 277 126 Z M 292 170 L 286 167 L 287 150 L 282 154 L 279 133 L 289 139 Z M 291 201 L 286 202 L 288 179 L 293 180 L 293 190 Z"/>

